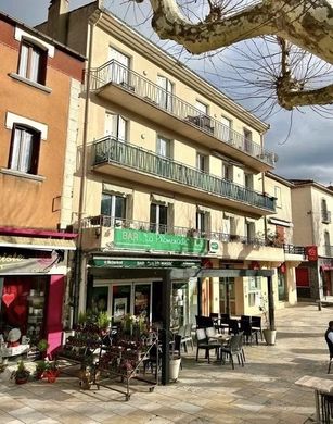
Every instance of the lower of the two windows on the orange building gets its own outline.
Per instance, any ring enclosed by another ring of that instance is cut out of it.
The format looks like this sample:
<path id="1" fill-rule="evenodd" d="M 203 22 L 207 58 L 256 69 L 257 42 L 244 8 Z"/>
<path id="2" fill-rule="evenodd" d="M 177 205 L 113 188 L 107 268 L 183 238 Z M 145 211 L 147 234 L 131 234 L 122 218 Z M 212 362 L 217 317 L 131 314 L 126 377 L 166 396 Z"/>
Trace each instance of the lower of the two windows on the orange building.
<path id="1" fill-rule="evenodd" d="M 11 140 L 9 169 L 37 174 L 40 132 L 14 124 Z"/>

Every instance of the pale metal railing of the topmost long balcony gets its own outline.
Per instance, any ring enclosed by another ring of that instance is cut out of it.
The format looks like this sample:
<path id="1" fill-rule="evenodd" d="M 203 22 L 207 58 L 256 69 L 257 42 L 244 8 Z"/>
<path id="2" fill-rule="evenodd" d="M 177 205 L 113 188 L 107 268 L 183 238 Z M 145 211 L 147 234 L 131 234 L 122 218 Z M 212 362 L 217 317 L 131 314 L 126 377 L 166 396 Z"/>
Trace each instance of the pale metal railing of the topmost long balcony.
<path id="1" fill-rule="evenodd" d="M 214 136 L 227 145 L 233 146 L 251 157 L 257 158 L 270 166 L 273 166 L 277 161 L 277 155 L 273 152 L 262 149 L 260 145 L 246 139 L 243 134 L 231 129 L 207 114 L 203 114 L 203 112 L 190 103 L 115 60 L 111 60 L 102 66 L 91 70 L 90 89 L 98 90 L 108 83 L 135 93 L 162 109 L 164 112 L 194 125 L 202 132 Z"/>

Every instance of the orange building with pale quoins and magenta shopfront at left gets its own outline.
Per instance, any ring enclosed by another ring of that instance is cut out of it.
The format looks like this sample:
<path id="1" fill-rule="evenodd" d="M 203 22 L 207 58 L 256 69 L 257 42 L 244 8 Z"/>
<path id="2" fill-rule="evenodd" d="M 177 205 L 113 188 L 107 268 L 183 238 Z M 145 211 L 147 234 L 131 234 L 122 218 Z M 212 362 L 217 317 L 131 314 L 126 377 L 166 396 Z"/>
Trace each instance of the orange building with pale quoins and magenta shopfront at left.
<path id="1" fill-rule="evenodd" d="M 0 55 L 0 333 L 52 350 L 76 249 L 66 227 L 85 59 L 4 14 Z"/>

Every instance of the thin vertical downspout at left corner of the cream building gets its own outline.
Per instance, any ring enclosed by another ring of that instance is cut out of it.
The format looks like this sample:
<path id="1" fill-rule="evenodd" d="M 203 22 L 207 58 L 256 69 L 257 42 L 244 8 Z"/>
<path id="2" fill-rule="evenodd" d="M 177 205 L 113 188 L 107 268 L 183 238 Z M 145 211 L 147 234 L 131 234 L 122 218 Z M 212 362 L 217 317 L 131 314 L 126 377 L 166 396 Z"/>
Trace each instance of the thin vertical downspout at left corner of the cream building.
<path id="1" fill-rule="evenodd" d="M 87 179 L 87 144 L 88 144 L 88 119 L 89 119 L 89 103 L 90 103 L 90 77 L 91 77 L 91 57 L 92 57 L 92 46 L 93 46 L 93 29 L 98 22 L 101 20 L 103 13 L 98 11 L 98 16 L 92 15 L 89 18 L 89 50 L 88 50 L 88 64 L 86 73 L 86 100 L 85 100 L 85 115 L 84 115 L 84 133 L 82 133 L 82 155 L 81 155 L 81 175 L 80 175 L 80 188 L 79 188 L 79 204 L 77 213 L 77 230 L 78 230 L 78 241 L 77 241 L 77 251 L 76 251 L 76 261 L 75 261 L 75 280 L 74 280 L 74 324 L 77 323 L 78 319 L 78 309 L 79 309 L 79 292 L 81 284 L 81 262 L 84 260 L 82 252 L 82 217 L 85 213 L 85 200 L 86 200 L 86 179 Z"/>

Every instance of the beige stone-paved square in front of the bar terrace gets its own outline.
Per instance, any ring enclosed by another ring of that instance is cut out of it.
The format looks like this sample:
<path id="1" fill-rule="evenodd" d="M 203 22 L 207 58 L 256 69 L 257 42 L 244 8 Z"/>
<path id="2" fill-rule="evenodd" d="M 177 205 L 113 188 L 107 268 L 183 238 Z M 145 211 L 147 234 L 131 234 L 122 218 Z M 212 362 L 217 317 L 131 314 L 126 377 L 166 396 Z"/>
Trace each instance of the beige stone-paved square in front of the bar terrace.
<path id="1" fill-rule="evenodd" d="M 177 383 L 149 392 L 135 386 L 129 401 L 101 388 L 80 390 L 77 378 L 61 375 L 15 385 L 10 370 L 0 374 L 0 423 L 97 424 L 97 423 L 310 423 L 313 392 L 294 383 L 304 375 L 328 377 L 328 349 L 323 338 L 333 308 L 318 311 L 299 304 L 277 311 L 276 346 L 246 346 L 246 364 L 220 364 L 183 359 Z"/>

